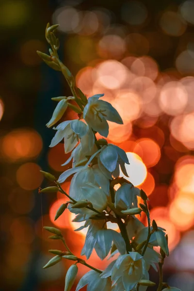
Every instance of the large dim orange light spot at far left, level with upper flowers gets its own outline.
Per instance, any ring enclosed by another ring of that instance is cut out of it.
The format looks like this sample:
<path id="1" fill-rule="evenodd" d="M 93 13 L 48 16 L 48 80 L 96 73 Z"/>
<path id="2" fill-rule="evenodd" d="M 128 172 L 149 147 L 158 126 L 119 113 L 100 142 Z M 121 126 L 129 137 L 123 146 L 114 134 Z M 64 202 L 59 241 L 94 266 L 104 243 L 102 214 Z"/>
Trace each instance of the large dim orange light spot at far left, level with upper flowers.
<path id="1" fill-rule="evenodd" d="M 33 129 L 16 129 L 6 134 L 2 140 L 2 153 L 10 160 L 35 158 L 42 149 L 40 135 Z"/>

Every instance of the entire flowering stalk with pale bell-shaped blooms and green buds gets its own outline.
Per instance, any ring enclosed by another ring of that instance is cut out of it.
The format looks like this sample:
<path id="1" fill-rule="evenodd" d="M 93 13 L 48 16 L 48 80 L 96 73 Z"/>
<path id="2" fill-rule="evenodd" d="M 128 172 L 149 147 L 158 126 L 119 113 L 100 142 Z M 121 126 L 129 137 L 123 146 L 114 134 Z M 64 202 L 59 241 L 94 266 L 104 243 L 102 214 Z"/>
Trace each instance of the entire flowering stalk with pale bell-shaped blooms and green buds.
<path id="1" fill-rule="evenodd" d="M 89 259 L 95 249 L 100 259 L 105 259 L 109 254 L 115 259 L 105 270 L 99 270 L 71 252 L 59 229 L 45 227 L 53 234 L 50 238 L 60 239 L 66 250 L 50 250 L 56 256 L 44 268 L 61 259 L 76 261 L 66 274 L 65 291 L 70 291 L 74 284 L 78 264 L 86 265 L 91 271 L 83 275 L 76 291 L 86 285 L 88 291 L 146 291 L 149 286 L 155 285 L 149 281 L 149 268 L 152 266 L 157 271 L 159 264 L 162 274 L 164 259 L 169 255 L 165 229 L 158 227 L 154 220 L 151 224 L 146 193 L 120 177 L 120 169 L 128 176 L 125 164 L 129 164 L 129 161 L 125 151 L 108 144 L 105 139 L 109 133 L 107 121 L 122 124 L 121 116 L 110 103 L 102 99 L 103 94 L 87 98 L 76 87 L 73 76 L 58 58 L 59 45 L 54 34 L 56 28 L 57 25 L 48 24 L 46 29 L 46 38 L 51 46 L 50 56 L 41 52 L 38 54 L 49 66 L 62 71 L 72 91 L 73 96 L 53 98 L 58 104 L 47 124 L 52 127 L 58 123 L 53 127 L 56 133 L 50 147 L 64 140 L 65 153 L 71 152 L 71 155 L 65 162 L 69 164 L 69 169 L 58 180 L 42 172 L 55 186 L 40 192 L 60 191 L 69 198 L 57 210 L 55 219 L 68 209 L 76 214 L 73 221 L 84 222 L 76 229 L 80 231 L 87 228 L 82 256 Z M 78 117 L 59 123 L 67 107 L 74 110 Z M 97 140 L 97 132 L 105 138 Z M 69 177 L 71 184 L 67 194 L 61 183 Z M 138 205 L 138 197 L 142 198 L 142 204 Z M 148 226 L 144 226 L 138 219 L 142 211 L 146 213 Z M 109 221 L 117 224 L 119 231 L 108 229 Z M 160 246 L 160 253 L 154 250 L 154 246 Z M 158 291 L 163 287 L 167 287 L 164 290 L 179 290 L 163 283 L 160 277 Z"/>

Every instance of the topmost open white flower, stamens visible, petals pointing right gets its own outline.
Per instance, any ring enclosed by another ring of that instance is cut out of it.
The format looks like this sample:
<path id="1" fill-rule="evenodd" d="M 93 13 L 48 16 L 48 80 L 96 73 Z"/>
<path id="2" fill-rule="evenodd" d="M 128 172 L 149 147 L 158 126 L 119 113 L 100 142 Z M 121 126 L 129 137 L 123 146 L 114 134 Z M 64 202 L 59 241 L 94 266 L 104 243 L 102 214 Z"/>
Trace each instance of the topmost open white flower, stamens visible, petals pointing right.
<path id="1" fill-rule="evenodd" d="M 98 100 L 104 94 L 97 94 L 88 98 L 88 103 L 83 110 L 83 118 L 92 129 L 107 137 L 109 125 L 107 120 L 123 124 L 119 113 L 106 101 Z"/>

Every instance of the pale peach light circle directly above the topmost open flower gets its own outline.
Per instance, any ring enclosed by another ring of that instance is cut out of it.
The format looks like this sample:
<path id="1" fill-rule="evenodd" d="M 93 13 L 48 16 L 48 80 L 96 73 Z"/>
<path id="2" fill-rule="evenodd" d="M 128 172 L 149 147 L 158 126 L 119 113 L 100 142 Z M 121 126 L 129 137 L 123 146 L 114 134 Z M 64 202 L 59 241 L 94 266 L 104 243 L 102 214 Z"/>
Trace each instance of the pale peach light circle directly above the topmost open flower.
<path id="1" fill-rule="evenodd" d="M 117 89 L 126 81 L 127 69 L 115 60 L 108 60 L 97 66 L 96 78 L 105 88 Z"/>

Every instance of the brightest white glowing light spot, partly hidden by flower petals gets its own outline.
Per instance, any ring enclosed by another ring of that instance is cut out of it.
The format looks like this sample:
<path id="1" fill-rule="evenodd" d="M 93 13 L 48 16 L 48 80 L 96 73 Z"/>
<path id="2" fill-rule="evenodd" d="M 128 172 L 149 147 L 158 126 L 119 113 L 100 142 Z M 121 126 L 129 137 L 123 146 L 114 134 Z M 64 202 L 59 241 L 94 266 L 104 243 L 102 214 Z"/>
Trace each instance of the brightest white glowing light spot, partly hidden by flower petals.
<path id="1" fill-rule="evenodd" d="M 120 170 L 120 176 L 129 180 L 134 186 L 144 182 L 147 176 L 147 169 L 142 159 L 135 153 L 127 152 L 130 164 L 125 164 L 129 177 L 126 177 Z"/>

